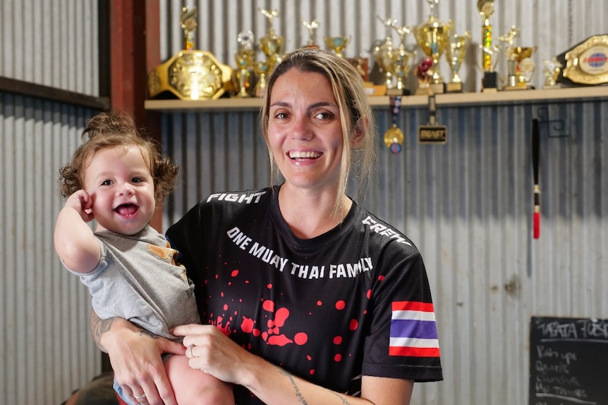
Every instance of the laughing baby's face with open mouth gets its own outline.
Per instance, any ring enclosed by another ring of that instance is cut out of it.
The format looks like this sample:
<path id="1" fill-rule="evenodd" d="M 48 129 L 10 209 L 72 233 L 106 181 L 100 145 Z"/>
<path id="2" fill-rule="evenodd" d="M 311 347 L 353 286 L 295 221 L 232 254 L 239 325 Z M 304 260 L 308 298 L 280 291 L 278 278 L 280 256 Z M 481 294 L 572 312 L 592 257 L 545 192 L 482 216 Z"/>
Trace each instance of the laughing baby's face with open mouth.
<path id="1" fill-rule="evenodd" d="M 97 151 L 85 168 L 84 183 L 97 230 L 134 235 L 152 219 L 154 180 L 139 147 Z"/>

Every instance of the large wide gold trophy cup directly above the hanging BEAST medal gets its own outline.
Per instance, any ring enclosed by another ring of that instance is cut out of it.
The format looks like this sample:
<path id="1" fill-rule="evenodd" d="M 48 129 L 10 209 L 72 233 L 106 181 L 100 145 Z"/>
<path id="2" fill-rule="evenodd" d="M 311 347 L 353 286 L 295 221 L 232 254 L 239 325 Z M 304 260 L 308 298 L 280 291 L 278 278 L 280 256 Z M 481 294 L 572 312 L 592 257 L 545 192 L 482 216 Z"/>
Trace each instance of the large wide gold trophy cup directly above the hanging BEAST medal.
<path id="1" fill-rule="evenodd" d="M 439 0 L 427 0 L 427 2 L 431 8 L 429 19 L 426 23 L 414 28 L 414 35 L 418 46 L 433 60 L 433 64 L 427 72 L 430 80 L 430 91 L 443 93 L 445 92 L 445 84 L 442 75 L 439 73 L 439 58 L 447 49 L 452 22 L 449 20 L 446 24 L 439 21 L 437 13 L 435 13 L 435 6 L 439 3 Z"/>

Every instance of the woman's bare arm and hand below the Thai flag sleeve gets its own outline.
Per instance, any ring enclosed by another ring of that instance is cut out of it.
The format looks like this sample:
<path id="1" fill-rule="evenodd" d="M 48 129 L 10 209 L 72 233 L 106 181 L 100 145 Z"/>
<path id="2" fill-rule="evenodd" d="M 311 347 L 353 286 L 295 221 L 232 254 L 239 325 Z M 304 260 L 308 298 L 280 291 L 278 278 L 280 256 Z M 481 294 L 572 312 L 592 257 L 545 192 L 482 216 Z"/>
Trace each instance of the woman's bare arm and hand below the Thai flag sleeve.
<path id="1" fill-rule="evenodd" d="M 251 354 L 212 325 L 183 325 L 174 335 L 184 336 L 190 367 L 226 382 L 247 387 L 265 404 L 374 404 L 409 405 L 413 381 L 363 376 L 361 397 L 349 397 L 298 378 Z"/>

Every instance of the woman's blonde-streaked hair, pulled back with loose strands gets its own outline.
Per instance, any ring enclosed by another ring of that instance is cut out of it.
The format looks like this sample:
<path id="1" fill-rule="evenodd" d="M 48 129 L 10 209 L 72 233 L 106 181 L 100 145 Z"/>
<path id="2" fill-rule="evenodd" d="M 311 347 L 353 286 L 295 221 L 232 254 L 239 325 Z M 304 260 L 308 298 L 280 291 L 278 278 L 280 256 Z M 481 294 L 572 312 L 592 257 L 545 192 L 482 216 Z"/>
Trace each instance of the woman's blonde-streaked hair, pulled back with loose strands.
<path id="1" fill-rule="evenodd" d="M 367 101 L 363 78 L 356 68 L 346 59 L 329 51 L 321 49 L 302 48 L 292 51 L 279 65 L 276 66 L 268 78 L 266 93 L 262 99 L 262 113 L 260 126 L 268 147 L 271 166 L 271 185 L 278 169 L 272 149 L 268 142 L 268 120 L 270 96 L 276 79 L 288 70 L 296 69 L 299 72 L 320 73 L 327 77 L 332 85 L 332 91 L 340 111 L 342 124 L 343 151 L 340 166 L 339 187 L 336 193 L 334 216 L 340 216 L 341 201 L 346 194 L 346 184 L 351 167 L 357 170 L 360 185 L 367 184 L 375 165 L 375 123 L 372 109 Z M 361 136 L 357 146 L 353 146 L 353 139 Z"/>

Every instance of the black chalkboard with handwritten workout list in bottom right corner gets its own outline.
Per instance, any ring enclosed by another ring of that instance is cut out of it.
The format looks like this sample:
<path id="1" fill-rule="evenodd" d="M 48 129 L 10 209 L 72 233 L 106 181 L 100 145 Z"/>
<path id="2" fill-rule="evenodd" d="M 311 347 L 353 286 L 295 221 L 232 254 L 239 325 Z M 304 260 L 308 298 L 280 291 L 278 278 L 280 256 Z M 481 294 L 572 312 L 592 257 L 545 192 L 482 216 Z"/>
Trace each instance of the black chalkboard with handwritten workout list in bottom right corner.
<path id="1" fill-rule="evenodd" d="M 608 320 L 530 320 L 529 405 L 608 405 Z"/>

